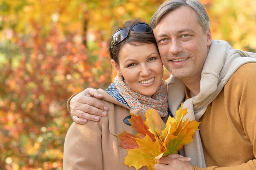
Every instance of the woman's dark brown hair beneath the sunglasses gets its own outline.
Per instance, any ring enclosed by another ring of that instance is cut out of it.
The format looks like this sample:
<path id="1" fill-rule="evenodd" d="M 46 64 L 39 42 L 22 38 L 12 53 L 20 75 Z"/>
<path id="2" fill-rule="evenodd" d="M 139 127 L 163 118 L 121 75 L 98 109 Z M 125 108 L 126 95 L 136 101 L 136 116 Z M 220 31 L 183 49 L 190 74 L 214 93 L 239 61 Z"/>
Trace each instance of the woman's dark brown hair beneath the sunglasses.
<path id="1" fill-rule="evenodd" d="M 146 22 L 141 22 L 141 20 L 137 19 L 137 20 L 128 20 L 126 21 L 124 24 L 122 24 L 123 26 L 114 26 L 112 28 L 112 34 L 115 33 L 115 31 L 122 29 L 122 28 L 129 28 L 137 23 L 146 23 Z M 136 44 L 135 42 L 140 42 L 140 43 L 144 43 L 144 44 L 155 44 L 157 45 L 157 42 L 155 40 L 154 34 L 153 33 L 143 33 L 143 32 L 136 32 L 136 31 L 132 31 L 130 30 L 130 33 L 128 35 L 128 38 L 126 38 L 125 40 L 123 40 L 122 42 L 120 42 L 119 44 L 112 46 L 112 34 L 108 40 L 108 52 L 110 55 L 110 58 L 112 60 L 114 60 L 117 64 L 118 64 L 118 54 L 120 49 L 122 48 L 122 46 L 124 46 L 124 44 L 126 43 L 130 43 L 132 45 L 141 45 L 141 44 Z"/>

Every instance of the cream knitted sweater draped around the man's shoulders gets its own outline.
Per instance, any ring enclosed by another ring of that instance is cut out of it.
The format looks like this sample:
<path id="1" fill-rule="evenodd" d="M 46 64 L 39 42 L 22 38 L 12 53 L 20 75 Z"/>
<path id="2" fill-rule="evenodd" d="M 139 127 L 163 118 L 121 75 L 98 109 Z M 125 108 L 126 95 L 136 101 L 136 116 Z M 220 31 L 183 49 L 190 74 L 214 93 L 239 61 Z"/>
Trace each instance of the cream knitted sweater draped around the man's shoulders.
<path id="1" fill-rule="evenodd" d="M 255 58 L 256 53 L 235 50 L 225 41 L 213 40 L 201 74 L 200 93 L 183 104 L 184 108 L 188 108 L 185 119 L 198 121 L 236 70 L 243 64 L 256 62 Z M 168 106 L 174 116 L 184 97 L 185 85 L 171 75 L 168 83 Z M 193 165 L 206 167 L 199 131 L 194 135 L 194 141 L 184 146 L 184 155 L 192 158 L 190 162 Z"/>

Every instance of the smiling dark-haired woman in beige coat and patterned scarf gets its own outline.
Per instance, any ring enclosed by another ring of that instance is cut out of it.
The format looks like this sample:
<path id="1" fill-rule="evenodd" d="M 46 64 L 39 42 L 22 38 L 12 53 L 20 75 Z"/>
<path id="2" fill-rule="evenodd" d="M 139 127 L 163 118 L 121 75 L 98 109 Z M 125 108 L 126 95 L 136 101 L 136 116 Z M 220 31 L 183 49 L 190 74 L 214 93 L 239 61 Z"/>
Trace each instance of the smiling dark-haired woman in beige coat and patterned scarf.
<path id="1" fill-rule="evenodd" d="M 108 116 L 70 126 L 64 144 L 63 170 L 135 169 L 124 165 L 127 151 L 118 146 L 116 134 L 123 130 L 136 134 L 127 120 L 130 112 L 139 114 L 154 108 L 160 116 L 167 115 L 163 65 L 151 27 L 132 20 L 115 30 L 108 50 L 117 76 L 106 91 L 99 89 L 103 94 L 101 102 L 108 106 Z"/>

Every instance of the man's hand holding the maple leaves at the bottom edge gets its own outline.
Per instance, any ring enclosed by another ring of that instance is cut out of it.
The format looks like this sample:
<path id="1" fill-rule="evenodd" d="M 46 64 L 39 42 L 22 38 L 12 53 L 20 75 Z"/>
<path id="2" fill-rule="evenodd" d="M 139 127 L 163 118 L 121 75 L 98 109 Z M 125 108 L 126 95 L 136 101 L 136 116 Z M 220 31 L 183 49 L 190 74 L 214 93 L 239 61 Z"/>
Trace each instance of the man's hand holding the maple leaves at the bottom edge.
<path id="1" fill-rule="evenodd" d="M 178 154 L 171 154 L 162 157 L 154 165 L 155 170 L 193 170 L 193 165 L 189 163 L 191 158 L 182 157 Z"/>

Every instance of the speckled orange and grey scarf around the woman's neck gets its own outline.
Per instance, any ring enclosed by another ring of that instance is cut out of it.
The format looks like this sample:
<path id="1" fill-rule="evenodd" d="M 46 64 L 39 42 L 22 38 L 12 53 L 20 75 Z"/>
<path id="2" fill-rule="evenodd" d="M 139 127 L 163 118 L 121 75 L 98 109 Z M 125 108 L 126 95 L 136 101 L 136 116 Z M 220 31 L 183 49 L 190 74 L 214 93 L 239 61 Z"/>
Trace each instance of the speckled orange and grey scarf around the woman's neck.
<path id="1" fill-rule="evenodd" d="M 167 84 L 164 80 L 162 80 L 157 92 L 151 98 L 133 91 L 122 76 L 117 75 L 115 77 L 115 85 L 130 108 L 140 109 L 144 114 L 146 110 L 154 108 L 161 117 L 167 115 Z"/>

